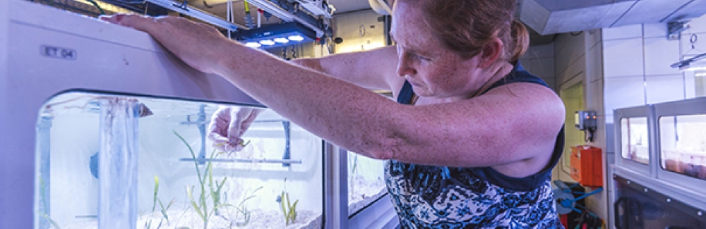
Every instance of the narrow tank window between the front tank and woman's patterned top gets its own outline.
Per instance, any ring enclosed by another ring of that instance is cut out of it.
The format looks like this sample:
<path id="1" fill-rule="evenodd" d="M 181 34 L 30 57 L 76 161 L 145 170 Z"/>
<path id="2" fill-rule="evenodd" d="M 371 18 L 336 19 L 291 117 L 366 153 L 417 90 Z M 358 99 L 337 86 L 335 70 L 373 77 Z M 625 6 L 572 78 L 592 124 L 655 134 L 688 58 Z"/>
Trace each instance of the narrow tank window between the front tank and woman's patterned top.
<path id="1" fill-rule="evenodd" d="M 388 193 L 384 166 L 385 161 L 348 151 L 348 216 Z"/>

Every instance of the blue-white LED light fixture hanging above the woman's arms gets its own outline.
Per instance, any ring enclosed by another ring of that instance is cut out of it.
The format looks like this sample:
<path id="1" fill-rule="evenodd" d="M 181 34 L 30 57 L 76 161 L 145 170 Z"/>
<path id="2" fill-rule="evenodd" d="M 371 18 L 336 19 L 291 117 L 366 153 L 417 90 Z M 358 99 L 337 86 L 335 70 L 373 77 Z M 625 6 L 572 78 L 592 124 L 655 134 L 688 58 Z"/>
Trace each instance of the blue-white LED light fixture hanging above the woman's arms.
<path id="1" fill-rule="evenodd" d="M 238 32 L 247 47 L 272 49 L 316 41 L 316 32 L 297 22 L 267 25 Z"/>

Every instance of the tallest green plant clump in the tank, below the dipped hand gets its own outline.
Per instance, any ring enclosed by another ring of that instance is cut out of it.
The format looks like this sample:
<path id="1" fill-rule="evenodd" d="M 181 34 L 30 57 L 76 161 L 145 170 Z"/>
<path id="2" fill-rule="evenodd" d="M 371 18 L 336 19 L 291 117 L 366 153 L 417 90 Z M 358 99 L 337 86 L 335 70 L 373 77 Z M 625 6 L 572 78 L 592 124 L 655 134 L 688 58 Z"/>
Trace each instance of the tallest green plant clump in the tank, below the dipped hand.
<path id="1" fill-rule="evenodd" d="M 174 135 L 179 137 L 179 140 L 183 142 L 191 153 L 191 159 L 193 159 L 193 165 L 196 167 L 196 175 L 198 177 L 198 187 L 201 193 L 198 197 L 194 198 L 193 188 L 186 187 L 186 196 L 189 197 L 191 202 L 191 207 L 196 211 L 198 216 L 203 221 L 203 228 L 208 228 L 208 221 L 213 216 L 220 216 L 220 209 L 225 206 L 232 206 L 232 204 L 227 204 L 223 201 L 222 188 L 228 178 L 223 178 L 223 180 L 213 180 L 213 158 L 216 153 L 215 150 L 211 153 L 208 161 L 206 162 L 206 168 L 204 169 L 203 175 L 201 174 L 201 169 L 198 168 L 198 159 L 196 159 L 196 154 L 193 153 L 193 149 L 189 142 L 184 140 L 177 131 L 173 131 Z M 210 203 L 209 203 L 210 202 Z M 209 206 L 210 205 L 210 206 Z"/>

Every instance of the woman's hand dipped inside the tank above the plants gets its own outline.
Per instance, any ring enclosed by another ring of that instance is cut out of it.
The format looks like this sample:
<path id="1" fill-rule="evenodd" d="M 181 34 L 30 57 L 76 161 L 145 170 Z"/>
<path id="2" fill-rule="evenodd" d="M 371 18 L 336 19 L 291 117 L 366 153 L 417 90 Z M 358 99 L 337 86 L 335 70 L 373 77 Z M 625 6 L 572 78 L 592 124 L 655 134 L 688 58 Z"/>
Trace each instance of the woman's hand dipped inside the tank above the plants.
<path id="1" fill-rule="evenodd" d="M 250 128 L 262 109 L 239 106 L 220 106 L 211 116 L 208 139 L 213 147 L 225 153 L 241 151 L 245 147 L 243 134 Z"/>

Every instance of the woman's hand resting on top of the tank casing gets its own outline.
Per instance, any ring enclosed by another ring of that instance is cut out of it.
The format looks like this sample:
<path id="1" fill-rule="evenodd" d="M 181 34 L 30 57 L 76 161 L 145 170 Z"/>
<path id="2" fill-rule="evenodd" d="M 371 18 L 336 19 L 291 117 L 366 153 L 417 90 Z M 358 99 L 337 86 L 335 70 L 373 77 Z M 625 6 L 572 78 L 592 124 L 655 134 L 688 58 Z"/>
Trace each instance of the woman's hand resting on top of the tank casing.
<path id="1" fill-rule="evenodd" d="M 118 13 L 100 19 L 147 32 L 186 64 L 204 73 L 215 73 L 217 51 L 234 44 L 215 27 L 174 16 L 152 18 Z"/>

